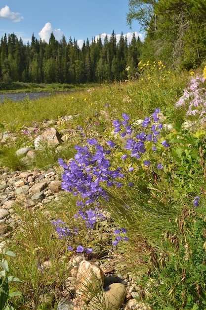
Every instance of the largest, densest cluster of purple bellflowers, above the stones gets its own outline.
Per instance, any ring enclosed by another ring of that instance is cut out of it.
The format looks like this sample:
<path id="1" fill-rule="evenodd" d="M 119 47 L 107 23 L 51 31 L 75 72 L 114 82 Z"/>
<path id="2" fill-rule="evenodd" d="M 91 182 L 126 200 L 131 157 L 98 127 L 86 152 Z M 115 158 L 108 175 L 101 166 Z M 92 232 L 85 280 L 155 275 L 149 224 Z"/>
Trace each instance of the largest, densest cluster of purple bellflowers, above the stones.
<path id="1" fill-rule="evenodd" d="M 101 182 L 105 182 L 106 186 L 112 185 L 122 186 L 122 183 L 115 179 L 123 178 L 121 173 L 122 167 L 116 170 L 111 169 L 110 160 L 106 158 L 110 154 L 110 150 L 104 148 L 97 143 L 96 139 L 87 139 L 89 147 L 93 148 L 93 152 L 87 146 L 75 146 L 78 151 L 75 159 L 72 159 L 66 165 L 63 159 L 59 158 L 59 165 L 65 170 L 62 174 L 62 189 L 73 193 L 73 195 L 81 195 L 82 199 L 86 199 L 85 205 L 94 203 L 97 198 L 103 197 L 108 200 L 106 191 L 102 188 Z M 112 148 L 112 141 L 107 141 Z"/>

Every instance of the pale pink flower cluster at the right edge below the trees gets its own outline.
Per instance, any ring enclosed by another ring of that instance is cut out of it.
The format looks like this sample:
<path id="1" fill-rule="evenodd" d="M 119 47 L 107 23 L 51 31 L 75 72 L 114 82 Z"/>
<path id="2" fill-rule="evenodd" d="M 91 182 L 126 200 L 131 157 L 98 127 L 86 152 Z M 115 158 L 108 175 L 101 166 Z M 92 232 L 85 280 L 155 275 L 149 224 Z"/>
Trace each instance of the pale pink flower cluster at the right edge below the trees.
<path id="1" fill-rule="evenodd" d="M 175 103 L 177 108 L 187 109 L 186 115 L 197 116 L 202 123 L 206 121 L 206 89 L 204 77 L 196 77 L 188 83 L 183 96 Z"/>

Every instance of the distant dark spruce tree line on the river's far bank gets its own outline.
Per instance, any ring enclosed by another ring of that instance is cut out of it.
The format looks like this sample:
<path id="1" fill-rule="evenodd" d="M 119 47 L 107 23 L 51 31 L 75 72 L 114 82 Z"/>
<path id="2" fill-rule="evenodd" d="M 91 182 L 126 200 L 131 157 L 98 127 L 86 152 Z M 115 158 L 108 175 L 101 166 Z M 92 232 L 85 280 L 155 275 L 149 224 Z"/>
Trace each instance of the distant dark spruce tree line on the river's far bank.
<path id="1" fill-rule="evenodd" d="M 49 43 L 34 34 L 23 44 L 15 34 L 0 40 L 0 81 L 33 83 L 87 83 L 123 80 L 135 75 L 142 42 L 133 33 L 131 42 L 123 33 L 117 43 L 114 31 L 102 42 L 87 39 L 82 48 L 76 40 L 63 36 L 59 42 L 51 33 Z"/>

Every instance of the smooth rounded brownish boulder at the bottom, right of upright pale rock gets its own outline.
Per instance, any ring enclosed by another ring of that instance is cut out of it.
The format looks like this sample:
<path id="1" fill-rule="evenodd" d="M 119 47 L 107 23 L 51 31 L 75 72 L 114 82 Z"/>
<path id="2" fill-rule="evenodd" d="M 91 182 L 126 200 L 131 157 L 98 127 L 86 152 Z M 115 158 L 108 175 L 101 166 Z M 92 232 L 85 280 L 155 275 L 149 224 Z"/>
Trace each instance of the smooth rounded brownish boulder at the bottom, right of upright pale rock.
<path id="1" fill-rule="evenodd" d="M 88 304 L 89 310 L 118 310 L 124 303 L 126 287 L 121 283 L 109 285 L 105 291 L 98 293 Z"/>

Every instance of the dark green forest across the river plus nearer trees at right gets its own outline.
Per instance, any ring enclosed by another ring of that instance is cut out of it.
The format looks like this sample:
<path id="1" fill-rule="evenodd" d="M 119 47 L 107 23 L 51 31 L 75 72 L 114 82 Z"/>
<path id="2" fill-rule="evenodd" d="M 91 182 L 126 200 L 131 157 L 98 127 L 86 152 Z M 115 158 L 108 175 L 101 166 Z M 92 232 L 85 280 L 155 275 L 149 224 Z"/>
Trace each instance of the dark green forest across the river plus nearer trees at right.
<path id="1" fill-rule="evenodd" d="M 138 75 L 137 64 L 162 61 L 167 67 L 190 70 L 206 63 L 205 0 L 128 0 L 127 23 L 138 20 L 144 41 L 114 31 L 104 42 L 57 41 L 49 43 L 34 34 L 24 44 L 15 34 L 0 39 L 0 82 L 80 84 L 113 82 Z M 129 68 L 126 70 L 126 68 Z M 129 76 L 128 76 L 129 75 Z"/>

